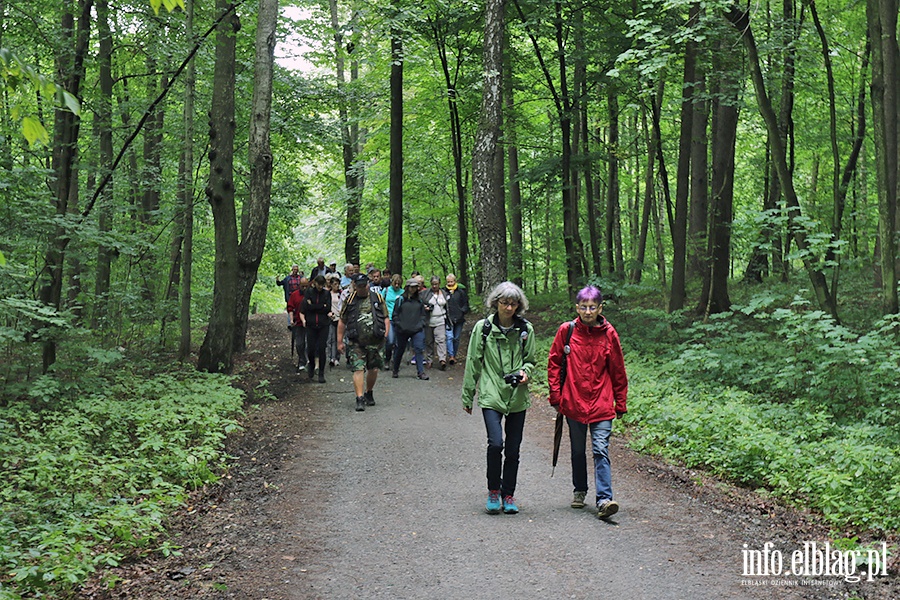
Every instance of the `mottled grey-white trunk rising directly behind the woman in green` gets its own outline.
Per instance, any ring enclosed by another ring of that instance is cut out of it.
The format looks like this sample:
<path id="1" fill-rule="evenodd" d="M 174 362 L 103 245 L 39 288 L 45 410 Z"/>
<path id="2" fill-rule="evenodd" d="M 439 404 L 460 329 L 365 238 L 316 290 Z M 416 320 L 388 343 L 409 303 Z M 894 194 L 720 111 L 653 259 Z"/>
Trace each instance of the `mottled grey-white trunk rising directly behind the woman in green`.
<path id="1" fill-rule="evenodd" d="M 506 279 L 506 219 L 494 176 L 502 109 L 504 0 L 487 0 L 481 119 L 472 153 L 472 208 L 481 241 L 483 289 Z"/>

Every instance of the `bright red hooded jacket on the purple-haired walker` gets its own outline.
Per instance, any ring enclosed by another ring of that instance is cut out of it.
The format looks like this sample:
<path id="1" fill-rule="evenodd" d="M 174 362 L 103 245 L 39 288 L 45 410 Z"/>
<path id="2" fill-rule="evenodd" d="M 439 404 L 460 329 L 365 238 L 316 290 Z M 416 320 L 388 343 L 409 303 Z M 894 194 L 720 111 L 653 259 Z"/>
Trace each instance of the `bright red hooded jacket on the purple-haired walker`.
<path id="1" fill-rule="evenodd" d="M 560 367 L 569 323 L 556 331 L 547 361 L 550 404 L 579 423 L 608 421 L 627 412 L 628 376 L 619 334 L 609 321 L 599 316 L 597 325 L 588 327 L 575 320 L 569 340 L 566 382 L 560 389 Z"/>

